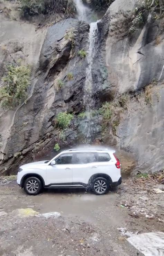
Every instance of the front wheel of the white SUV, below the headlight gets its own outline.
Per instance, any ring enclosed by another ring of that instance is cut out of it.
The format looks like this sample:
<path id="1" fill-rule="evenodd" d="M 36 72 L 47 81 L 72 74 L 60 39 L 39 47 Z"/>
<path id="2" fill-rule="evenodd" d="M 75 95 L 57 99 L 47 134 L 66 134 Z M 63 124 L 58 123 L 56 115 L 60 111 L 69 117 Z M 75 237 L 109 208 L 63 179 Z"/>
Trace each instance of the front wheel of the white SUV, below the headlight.
<path id="1" fill-rule="evenodd" d="M 40 179 L 36 177 L 29 177 L 24 182 L 24 189 L 28 195 L 38 195 L 42 187 Z"/>

